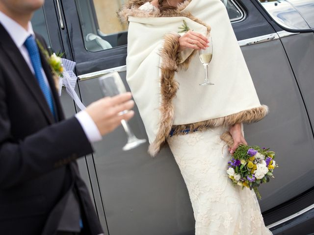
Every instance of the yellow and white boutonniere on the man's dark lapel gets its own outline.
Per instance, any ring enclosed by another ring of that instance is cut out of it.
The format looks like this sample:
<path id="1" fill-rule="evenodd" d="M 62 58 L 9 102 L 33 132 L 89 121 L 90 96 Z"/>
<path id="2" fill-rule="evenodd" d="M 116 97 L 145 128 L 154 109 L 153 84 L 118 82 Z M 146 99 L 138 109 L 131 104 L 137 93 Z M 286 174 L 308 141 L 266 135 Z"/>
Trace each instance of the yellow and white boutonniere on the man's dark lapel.
<path id="1" fill-rule="evenodd" d="M 43 45 L 36 39 L 37 45 L 40 49 L 40 51 L 45 56 L 48 64 L 50 65 L 51 71 L 52 71 L 52 77 L 55 83 L 55 87 L 58 90 L 59 89 L 59 78 L 63 77 L 63 66 L 62 66 L 62 60 L 61 57 L 64 53 L 52 53 L 50 54 Z"/>

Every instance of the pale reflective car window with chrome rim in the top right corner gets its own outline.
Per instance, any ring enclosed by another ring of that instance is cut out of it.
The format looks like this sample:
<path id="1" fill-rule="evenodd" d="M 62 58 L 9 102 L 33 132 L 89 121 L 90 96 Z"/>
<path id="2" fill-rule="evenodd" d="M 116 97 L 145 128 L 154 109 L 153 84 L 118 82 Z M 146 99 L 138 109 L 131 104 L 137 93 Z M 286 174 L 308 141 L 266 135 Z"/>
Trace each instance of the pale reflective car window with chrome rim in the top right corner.
<path id="1" fill-rule="evenodd" d="M 259 0 L 278 24 L 288 29 L 314 27 L 314 0 Z"/>

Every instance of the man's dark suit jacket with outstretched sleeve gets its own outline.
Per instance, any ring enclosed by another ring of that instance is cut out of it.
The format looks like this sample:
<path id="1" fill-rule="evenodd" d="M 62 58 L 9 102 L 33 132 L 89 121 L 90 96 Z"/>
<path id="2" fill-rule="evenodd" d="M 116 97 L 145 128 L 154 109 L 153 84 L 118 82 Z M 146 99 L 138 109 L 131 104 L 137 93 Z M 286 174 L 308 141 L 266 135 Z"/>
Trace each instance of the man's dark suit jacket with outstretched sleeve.
<path id="1" fill-rule="evenodd" d="M 78 194 L 83 234 L 101 234 L 75 161 L 92 152 L 91 144 L 77 118 L 64 120 L 52 71 L 42 55 L 41 60 L 57 121 L 22 54 L 0 24 L 0 235 L 55 234 L 71 190 Z"/>

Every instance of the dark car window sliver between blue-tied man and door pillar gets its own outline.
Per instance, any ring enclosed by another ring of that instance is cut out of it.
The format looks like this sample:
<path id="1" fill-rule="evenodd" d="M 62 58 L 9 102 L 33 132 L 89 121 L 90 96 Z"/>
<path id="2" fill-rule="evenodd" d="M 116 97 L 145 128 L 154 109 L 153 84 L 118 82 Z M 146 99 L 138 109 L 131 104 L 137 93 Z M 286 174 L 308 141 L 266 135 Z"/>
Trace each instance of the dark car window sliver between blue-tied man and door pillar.
<path id="1" fill-rule="evenodd" d="M 39 8 L 37 11 L 34 12 L 33 18 L 31 19 L 31 25 L 33 27 L 34 32 L 44 37 L 48 48 L 51 49 L 51 42 L 47 30 L 47 24 L 43 7 Z"/>

